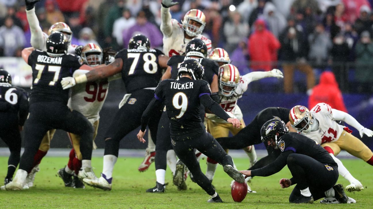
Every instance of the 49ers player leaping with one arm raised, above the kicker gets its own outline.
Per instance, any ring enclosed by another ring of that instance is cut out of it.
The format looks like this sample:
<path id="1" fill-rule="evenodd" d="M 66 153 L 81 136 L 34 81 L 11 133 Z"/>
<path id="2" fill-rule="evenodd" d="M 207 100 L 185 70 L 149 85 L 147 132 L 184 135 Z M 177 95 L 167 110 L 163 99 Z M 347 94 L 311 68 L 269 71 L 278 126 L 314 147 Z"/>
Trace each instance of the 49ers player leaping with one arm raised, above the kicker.
<path id="1" fill-rule="evenodd" d="M 172 57 L 185 52 L 185 46 L 192 38 L 201 39 L 207 46 L 207 54 L 211 51 L 211 40 L 201 35 L 205 28 L 205 15 L 199 9 L 189 10 L 181 24 L 178 20 L 171 19 L 169 7 L 178 4 L 172 0 L 162 0 L 161 6 L 161 26 L 163 33 L 163 52 Z"/>

